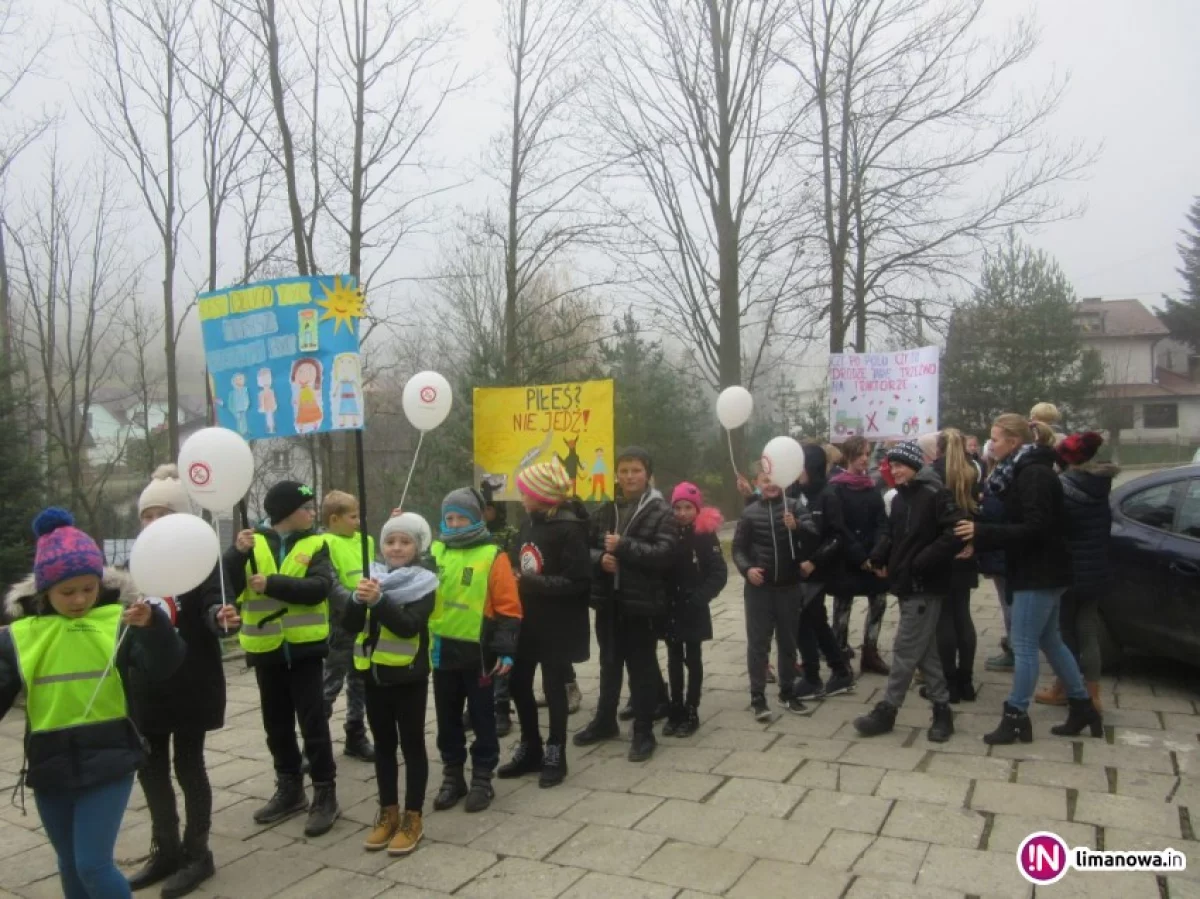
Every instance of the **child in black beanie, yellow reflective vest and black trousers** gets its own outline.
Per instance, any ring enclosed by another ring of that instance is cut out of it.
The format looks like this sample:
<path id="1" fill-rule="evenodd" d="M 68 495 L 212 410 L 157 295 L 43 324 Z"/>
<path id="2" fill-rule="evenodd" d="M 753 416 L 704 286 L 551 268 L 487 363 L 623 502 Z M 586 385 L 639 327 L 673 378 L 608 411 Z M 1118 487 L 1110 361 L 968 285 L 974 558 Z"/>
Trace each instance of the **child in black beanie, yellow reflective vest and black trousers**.
<path id="1" fill-rule="evenodd" d="M 238 640 L 254 669 L 275 762 L 275 795 L 254 813 L 254 822 L 272 825 L 307 809 L 306 837 L 328 833 L 341 814 L 324 700 L 335 574 L 326 537 L 313 529 L 314 507 L 311 487 L 280 481 L 263 499 L 270 523 L 238 534 L 224 559 L 241 607 Z M 304 789 L 298 724 L 312 766 L 312 805 Z"/>

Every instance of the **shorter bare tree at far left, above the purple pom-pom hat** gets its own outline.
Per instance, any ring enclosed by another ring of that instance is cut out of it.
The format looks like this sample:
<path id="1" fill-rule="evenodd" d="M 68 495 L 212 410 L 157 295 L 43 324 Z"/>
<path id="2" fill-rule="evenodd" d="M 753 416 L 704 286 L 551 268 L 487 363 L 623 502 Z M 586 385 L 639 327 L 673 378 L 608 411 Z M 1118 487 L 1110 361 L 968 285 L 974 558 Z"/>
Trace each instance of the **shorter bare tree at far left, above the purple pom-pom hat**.
<path id="1" fill-rule="evenodd" d="M 102 521 L 104 489 L 124 454 L 113 443 L 120 433 L 102 442 L 92 428 L 97 392 L 115 379 L 121 311 L 134 283 L 114 192 L 107 168 L 72 176 L 55 146 L 42 190 L 18 224 L 6 224 L 19 343 L 43 410 L 48 480 L 91 525 Z"/>

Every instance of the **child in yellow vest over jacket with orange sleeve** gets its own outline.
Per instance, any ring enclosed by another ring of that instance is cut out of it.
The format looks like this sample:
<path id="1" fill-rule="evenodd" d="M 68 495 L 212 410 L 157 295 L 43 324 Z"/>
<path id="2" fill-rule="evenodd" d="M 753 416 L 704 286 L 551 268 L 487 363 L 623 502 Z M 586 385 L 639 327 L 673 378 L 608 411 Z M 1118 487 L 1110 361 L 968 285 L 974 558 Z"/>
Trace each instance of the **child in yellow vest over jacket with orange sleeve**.
<path id="1" fill-rule="evenodd" d="M 512 669 L 521 599 L 509 557 L 487 533 L 478 490 L 455 490 L 442 501 L 439 531 L 433 544 L 438 595 L 430 618 L 430 661 L 443 779 L 433 809 L 454 808 L 466 796 L 467 811 L 482 811 L 492 804 L 492 777 L 500 760 L 492 678 Z M 475 731 L 469 790 L 463 777 L 463 705 Z"/>

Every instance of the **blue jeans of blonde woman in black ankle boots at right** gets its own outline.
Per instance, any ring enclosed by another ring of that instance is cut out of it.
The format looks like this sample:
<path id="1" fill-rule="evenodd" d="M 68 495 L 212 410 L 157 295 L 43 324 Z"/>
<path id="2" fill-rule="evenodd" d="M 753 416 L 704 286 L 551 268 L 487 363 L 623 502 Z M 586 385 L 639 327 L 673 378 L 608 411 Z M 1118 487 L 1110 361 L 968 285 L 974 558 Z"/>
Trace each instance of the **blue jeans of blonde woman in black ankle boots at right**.
<path id="1" fill-rule="evenodd" d="M 1066 685 L 1067 695 L 1073 700 L 1087 699 L 1084 676 L 1075 657 L 1062 642 L 1062 633 L 1058 630 L 1058 606 L 1064 592 L 1061 588 L 1013 592 L 1013 630 L 1008 640 L 1013 646 L 1015 664 L 1008 705 L 1021 712 L 1028 709 L 1033 690 L 1038 685 L 1039 647 L 1050 660 L 1055 675 Z"/>

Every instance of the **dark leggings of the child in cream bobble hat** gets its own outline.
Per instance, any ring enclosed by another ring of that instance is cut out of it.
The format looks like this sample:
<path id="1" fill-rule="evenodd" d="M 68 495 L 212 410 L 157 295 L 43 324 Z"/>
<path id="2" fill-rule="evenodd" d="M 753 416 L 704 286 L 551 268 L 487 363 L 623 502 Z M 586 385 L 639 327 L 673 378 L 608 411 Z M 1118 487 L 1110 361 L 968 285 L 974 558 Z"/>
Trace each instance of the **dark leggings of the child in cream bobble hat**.
<path id="1" fill-rule="evenodd" d="M 192 852 L 208 851 L 209 828 L 212 825 L 212 787 L 204 767 L 204 731 L 186 733 L 146 733 L 150 753 L 138 772 L 142 790 L 150 809 L 151 832 L 160 845 L 172 845 L 179 839 L 179 811 L 175 808 L 175 786 L 170 783 L 170 739 L 175 738 L 175 777 L 184 793 L 187 825 L 184 846 Z"/>

